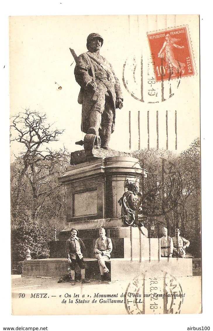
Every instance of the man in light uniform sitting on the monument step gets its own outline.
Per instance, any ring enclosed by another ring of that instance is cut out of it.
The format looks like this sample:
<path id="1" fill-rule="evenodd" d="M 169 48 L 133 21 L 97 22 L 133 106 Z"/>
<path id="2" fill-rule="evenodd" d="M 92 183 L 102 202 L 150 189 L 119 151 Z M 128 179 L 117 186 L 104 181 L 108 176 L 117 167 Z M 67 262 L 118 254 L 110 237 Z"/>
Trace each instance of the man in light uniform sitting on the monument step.
<path id="1" fill-rule="evenodd" d="M 110 259 L 110 253 L 112 252 L 112 240 L 106 237 L 106 231 L 103 228 L 99 230 L 100 237 L 95 243 L 95 258 L 98 260 L 98 265 L 101 273 L 100 280 L 104 280 L 104 274 L 109 272 L 105 261 Z"/>

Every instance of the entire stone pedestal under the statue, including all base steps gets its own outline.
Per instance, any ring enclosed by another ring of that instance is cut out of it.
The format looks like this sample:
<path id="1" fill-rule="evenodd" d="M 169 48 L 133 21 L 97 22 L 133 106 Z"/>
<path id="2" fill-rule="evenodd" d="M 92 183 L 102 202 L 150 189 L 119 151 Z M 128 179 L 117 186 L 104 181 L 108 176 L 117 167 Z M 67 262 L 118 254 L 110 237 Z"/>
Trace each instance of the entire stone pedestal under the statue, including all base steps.
<path id="1" fill-rule="evenodd" d="M 84 151 L 71 155 L 71 163 L 60 181 L 67 187 L 67 223 L 58 241 L 50 242 L 50 259 L 24 261 L 24 274 L 61 276 L 67 273 L 65 245 L 71 229 L 79 230 L 86 246 L 84 260 L 86 278 L 98 279 L 100 272 L 94 259 L 99 228 L 104 227 L 112 239 L 113 251 L 107 261 L 108 279 L 133 280 L 151 276 L 192 276 L 191 259 L 161 258 L 160 239 L 148 238 L 144 226 L 132 227 L 122 220 L 120 198 L 127 180 L 138 188 L 147 176 L 137 159 L 115 151 L 94 151 L 96 157 L 87 160 Z M 147 278 L 147 279 L 148 279 Z"/>

